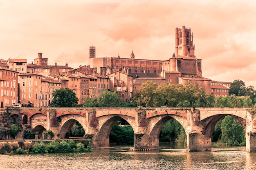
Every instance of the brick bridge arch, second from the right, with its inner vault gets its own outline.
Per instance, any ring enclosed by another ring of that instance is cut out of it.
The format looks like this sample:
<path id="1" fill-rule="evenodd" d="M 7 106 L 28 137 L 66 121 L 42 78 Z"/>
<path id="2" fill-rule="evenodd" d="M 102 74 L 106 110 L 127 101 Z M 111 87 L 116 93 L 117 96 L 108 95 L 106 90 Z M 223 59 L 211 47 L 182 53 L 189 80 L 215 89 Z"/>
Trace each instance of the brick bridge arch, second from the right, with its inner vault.
<path id="1" fill-rule="evenodd" d="M 178 115 L 161 115 L 161 116 L 155 116 L 152 117 L 150 120 L 150 124 L 152 125 L 152 128 L 150 129 L 149 133 L 149 144 L 153 148 L 159 147 L 159 135 L 164 127 L 164 125 L 171 119 L 177 120 L 181 126 L 185 129 L 187 129 L 187 120 L 186 118 Z M 188 136 L 187 132 L 186 135 Z"/>

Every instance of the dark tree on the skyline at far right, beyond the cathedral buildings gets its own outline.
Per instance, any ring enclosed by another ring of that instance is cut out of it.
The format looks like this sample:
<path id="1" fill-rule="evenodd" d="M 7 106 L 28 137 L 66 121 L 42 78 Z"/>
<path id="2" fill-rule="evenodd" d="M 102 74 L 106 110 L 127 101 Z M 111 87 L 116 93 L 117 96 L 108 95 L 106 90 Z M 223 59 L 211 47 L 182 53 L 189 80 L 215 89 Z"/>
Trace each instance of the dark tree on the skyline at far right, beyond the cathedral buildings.
<path id="1" fill-rule="evenodd" d="M 245 87 L 245 82 L 239 79 L 235 79 L 231 84 L 230 84 L 230 91 L 229 94 L 233 95 L 235 94 L 236 96 L 244 96 L 246 94 L 247 90 Z"/>

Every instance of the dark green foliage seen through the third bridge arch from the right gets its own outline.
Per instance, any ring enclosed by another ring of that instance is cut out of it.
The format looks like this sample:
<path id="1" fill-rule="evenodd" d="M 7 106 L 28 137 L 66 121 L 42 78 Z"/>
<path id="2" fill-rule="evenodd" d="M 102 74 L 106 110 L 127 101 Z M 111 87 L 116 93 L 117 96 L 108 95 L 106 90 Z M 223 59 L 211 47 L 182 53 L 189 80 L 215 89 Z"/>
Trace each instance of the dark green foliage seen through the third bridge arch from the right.
<path id="1" fill-rule="evenodd" d="M 109 140 L 110 143 L 134 144 L 134 132 L 132 126 L 119 126 L 119 122 L 117 122 L 110 132 Z"/>

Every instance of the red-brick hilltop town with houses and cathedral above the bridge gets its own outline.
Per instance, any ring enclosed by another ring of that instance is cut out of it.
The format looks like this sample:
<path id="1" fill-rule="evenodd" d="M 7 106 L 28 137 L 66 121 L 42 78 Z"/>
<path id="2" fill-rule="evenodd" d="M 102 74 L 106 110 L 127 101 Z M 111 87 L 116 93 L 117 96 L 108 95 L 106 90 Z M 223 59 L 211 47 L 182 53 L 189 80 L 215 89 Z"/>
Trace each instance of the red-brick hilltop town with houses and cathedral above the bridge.
<path id="1" fill-rule="evenodd" d="M 157 86 L 169 84 L 197 84 L 207 94 L 229 95 L 231 82 L 218 82 L 202 77 L 202 60 L 195 57 L 193 33 L 186 26 L 175 29 L 175 53 L 166 60 L 144 60 L 130 57 L 96 57 L 95 46 L 89 47 L 89 64 L 71 68 L 66 63 L 48 65 L 42 53 L 34 62 L 27 59 L 0 60 L 1 108 L 18 103 L 32 103 L 34 107 L 48 107 L 52 93 L 70 88 L 83 104 L 85 97 L 97 100 L 104 89 L 116 91 L 120 102 L 132 101 L 141 84 L 150 80 Z"/>

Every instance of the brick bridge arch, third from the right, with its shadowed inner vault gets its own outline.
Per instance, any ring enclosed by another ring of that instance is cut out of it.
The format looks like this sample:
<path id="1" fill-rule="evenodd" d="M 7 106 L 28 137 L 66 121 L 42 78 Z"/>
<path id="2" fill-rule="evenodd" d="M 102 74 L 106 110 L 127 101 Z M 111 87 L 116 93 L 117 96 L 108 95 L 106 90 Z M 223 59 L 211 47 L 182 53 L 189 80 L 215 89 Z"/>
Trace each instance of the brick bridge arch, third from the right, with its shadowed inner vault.
<path id="1" fill-rule="evenodd" d="M 108 115 L 99 117 L 99 133 L 95 135 L 92 146 L 93 147 L 108 147 L 109 146 L 109 136 L 113 126 L 120 119 L 126 120 L 130 126 L 132 126 L 133 132 L 135 132 L 135 118 L 126 115 Z"/>

